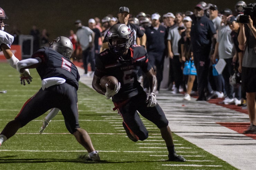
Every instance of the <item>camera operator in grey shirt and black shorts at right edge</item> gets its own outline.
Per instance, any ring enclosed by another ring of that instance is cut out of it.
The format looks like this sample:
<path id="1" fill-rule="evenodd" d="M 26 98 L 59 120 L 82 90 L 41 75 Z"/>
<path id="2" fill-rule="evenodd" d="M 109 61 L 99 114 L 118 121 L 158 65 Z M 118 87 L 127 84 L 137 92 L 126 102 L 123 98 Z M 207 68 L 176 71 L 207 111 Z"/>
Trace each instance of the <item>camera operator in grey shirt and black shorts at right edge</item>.
<path id="1" fill-rule="evenodd" d="M 238 18 L 240 25 L 238 42 L 239 48 L 244 50 L 243 60 L 240 64 L 242 64 L 242 86 L 246 91 L 247 109 L 250 119 L 250 126 L 244 133 L 256 134 L 256 15 L 254 14 L 256 10 L 255 4 L 252 4 L 252 7 L 249 6 L 249 8 L 248 6 L 244 8 L 245 15 L 242 18 L 241 16 Z M 248 18 L 248 20 L 245 18 Z"/>

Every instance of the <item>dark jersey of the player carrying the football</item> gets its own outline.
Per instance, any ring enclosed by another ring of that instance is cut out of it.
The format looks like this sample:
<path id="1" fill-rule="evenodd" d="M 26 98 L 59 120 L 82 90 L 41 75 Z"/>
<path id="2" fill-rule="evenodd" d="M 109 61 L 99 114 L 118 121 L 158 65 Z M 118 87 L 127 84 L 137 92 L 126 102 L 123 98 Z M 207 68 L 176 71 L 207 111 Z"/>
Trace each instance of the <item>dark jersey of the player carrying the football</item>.
<path id="1" fill-rule="evenodd" d="M 112 97 L 113 102 L 119 102 L 136 96 L 143 91 L 137 80 L 139 68 L 148 72 L 152 66 L 148 62 L 147 52 L 144 47 L 133 45 L 128 49 L 127 58 L 122 59 L 109 49 L 101 52 L 95 60 L 95 75 L 102 77 L 110 75 L 117 78 L 121 83 L 119 92 Z"/>

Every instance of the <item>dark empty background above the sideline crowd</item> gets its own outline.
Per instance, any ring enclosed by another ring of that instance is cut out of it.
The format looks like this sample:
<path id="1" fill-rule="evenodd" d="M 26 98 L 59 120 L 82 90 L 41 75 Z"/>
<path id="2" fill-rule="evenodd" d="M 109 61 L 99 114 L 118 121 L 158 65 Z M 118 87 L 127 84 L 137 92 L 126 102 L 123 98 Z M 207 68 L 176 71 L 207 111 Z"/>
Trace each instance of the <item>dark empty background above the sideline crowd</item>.
<path id="1" fill-rule="evenodd" d="M 68 36 L 73 29 L 74 21 L 80 19 L 84 25 L 90 18 L 102 19 L 107 14 L 117 15 L 121 6 L 130 9 L 136 16 L 140 11 L 148 14 L 158 12 L 193 11 L 199 1 L 190 0 L 0 0 L 0 7 L 4 9 L 9 20 L 7 32 L 12 26 L 17 26 L 22 34 L 29 34 L 35 24 L 40 31 L 46 28 L 50 40 L 57 36 Z M 238 0 L 208 0 L 207 3 L 216 4 L 219 10 L 230 8 L 235 10 Z M 245 1 L 247 4 L 254 1 Z"/>

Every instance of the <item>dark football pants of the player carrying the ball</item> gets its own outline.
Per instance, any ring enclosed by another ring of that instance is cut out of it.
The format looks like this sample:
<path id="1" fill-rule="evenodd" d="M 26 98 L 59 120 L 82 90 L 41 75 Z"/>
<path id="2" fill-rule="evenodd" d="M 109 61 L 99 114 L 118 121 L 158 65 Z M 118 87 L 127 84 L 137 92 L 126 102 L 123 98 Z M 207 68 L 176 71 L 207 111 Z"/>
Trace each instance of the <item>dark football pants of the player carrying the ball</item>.
<path id="1" fill-rule="evenodd" d="M 139 140 L 145 140 L 148 137 L 148 131 L 141 121 L 138 112 L 156 124 L 160 129 L 168 126 L 168 120 L 165 117 L 164 111 L 156 104 L 155 107 L 147 107 L 146 103 L 147 94 L 145 92 L 138 94 L 127 100 L 119 109 L 119 113 L 122 116 L 127 127 L 136 134 Z M 115 106 L 118 103 L 115 103 Z"/>

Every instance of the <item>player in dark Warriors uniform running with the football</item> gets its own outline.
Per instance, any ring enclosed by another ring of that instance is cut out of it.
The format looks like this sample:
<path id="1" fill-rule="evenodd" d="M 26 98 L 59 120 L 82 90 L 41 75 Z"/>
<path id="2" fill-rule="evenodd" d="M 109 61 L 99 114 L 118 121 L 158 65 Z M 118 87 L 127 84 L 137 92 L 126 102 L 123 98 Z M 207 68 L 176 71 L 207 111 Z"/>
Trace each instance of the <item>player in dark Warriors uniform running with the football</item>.
<path id="1" fill-rule="evenodd" d="M 186 161 L 177 155 L 174 149 L 172 132 L 168 120 L 161 107 L 156 102 L 156 76 L 148 62 L 147 52 L 143 46 L 132 45 L 132 31 L 125 24 L 115 24 L 108 32 L 109 48 L 102 51 L 96 58 L 96 71 L 92 80 L 92 87 L 107 99 L 112 97 L 123 118 L 123 126 L 127 136 L 132 141 L 145 140 L 148 131 L 139 118 L 138 112 L 152 121 L 160 129 L 168 149 L 169 161 Z M 137 73 L 141 68 L 147 75 L 150 84 L 150 94 L 147 94 L 137 80 Z M 106 84 L 103 89 L 101 77 L 114 76 L 119 83 L 111 90 Z"/>

